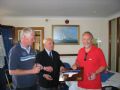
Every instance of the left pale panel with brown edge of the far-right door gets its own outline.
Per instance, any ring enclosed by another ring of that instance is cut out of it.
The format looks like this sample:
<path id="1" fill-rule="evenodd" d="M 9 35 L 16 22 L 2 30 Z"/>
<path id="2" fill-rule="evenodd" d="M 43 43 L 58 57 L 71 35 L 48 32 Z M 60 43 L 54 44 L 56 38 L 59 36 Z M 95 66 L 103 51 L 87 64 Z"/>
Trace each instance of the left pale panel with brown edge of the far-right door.
<path id="1" fill-rule="evenodd" d="M 113 19 L 109 22 L 109 67 L 110 70 L 116 71 L 116 39 L 117 39 L 117 19 Z"/>

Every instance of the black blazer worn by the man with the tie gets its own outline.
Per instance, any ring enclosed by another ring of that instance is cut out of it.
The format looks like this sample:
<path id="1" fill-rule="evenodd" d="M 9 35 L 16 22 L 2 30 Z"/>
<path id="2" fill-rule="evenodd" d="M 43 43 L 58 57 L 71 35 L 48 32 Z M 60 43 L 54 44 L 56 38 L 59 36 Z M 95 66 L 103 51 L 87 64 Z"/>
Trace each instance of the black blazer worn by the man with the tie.
<path id="1" fill-rule="evenodd" d="M 56 87 L 59 84 L 59 73 L 60 66 L 63 66 L 63 63 L 60 60 L 60 55 L 56 51 L 52 51 L 51 58 L 45 50 L 38 53 L 36 56 L 36 63 L 40 63 L 43 66 L 52 66 L 53 72 L 49 73 L 41 70 L 39 75 L 39 85 L 44 88 Z M 53 80 L 49 81 L 43 77 L 43 74 L 49 74 L 52 76 Z"/>

